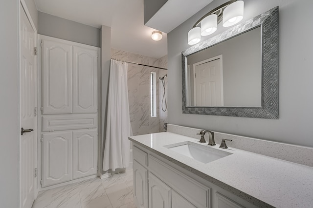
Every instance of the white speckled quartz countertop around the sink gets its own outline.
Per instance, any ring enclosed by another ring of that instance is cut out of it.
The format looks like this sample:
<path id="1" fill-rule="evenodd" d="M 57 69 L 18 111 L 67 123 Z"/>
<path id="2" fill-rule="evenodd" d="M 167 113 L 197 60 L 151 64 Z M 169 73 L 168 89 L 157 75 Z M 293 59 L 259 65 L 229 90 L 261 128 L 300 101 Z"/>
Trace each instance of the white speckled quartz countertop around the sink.
<path id="1" fill-rule="evenodd" d="M 277 208 L 313 207 L 312 167 L 234 149 L 230 144 L 226 150 L 219 148 L 219 144 L 210 146 L 232 154 L 204 164 L 164 147 L 186 141 L 201 144 L 200 139 L 171 132 L 131 136 L 129 139 L 246 201 L 259 201 L 261 207 L 266 204 Z M 208 147 L 207 143 L 201 145 Z"/>

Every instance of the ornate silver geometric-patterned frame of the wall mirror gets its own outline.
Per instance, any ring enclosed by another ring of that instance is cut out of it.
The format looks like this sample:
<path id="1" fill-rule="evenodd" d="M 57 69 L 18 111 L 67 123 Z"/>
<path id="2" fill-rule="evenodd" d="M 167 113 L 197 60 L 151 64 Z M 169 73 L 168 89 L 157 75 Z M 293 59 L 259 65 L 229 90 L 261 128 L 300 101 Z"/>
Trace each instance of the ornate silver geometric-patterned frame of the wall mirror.
<path id="1" fill-rule="evenodd" d="M 186 106 L 186 57 L 226 39 L 261 26 L 262 86 L 261 107 L 189 107 Z M 182 113 L 278 119 L 278 6 L 238 24 L 223 33 L 181 52 Z"/>

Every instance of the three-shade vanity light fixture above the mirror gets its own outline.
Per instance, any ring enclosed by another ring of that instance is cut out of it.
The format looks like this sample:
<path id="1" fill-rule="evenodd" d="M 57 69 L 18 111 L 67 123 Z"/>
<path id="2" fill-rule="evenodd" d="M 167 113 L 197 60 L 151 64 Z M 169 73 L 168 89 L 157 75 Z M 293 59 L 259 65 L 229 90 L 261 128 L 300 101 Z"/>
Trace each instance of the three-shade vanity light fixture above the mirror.
<path id="1" fill-rule="evenodd" d="M 194 45 L 201 36 L 208 36 L 217 30 L 217 25 L 223 20 L 223 26 L 229 27 L 244 18 L 244 1 L 230 0 L 211 10 L 199 19 L 188 32 L 188 44 Z"/>

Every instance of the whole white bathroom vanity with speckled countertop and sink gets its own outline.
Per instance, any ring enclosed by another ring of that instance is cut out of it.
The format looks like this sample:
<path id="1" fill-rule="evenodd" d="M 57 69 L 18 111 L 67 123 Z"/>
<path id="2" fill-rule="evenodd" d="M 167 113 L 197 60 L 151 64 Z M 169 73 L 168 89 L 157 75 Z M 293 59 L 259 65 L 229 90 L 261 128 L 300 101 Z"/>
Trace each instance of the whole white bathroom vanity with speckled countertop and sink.
<path id="1" fill-rule="evenodd" d="M 312 167 L 173 132 L 129 139 L 138 208 L 313 206 Z"/>

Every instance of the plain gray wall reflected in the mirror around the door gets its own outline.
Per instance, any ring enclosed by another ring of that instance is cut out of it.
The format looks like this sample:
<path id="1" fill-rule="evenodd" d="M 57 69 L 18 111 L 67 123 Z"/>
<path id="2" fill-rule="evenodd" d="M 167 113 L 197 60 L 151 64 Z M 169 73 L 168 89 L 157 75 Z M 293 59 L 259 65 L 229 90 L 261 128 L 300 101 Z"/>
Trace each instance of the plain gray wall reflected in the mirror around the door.
<path id="1" fill-rule="evenodd" d="M 194 63 L 219 55 L 223 55 L 224 106 L 261 106 L 261 27 L 192 54 L 187 64 L 193 73 Z"/>

